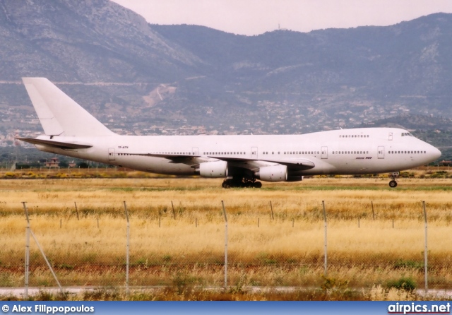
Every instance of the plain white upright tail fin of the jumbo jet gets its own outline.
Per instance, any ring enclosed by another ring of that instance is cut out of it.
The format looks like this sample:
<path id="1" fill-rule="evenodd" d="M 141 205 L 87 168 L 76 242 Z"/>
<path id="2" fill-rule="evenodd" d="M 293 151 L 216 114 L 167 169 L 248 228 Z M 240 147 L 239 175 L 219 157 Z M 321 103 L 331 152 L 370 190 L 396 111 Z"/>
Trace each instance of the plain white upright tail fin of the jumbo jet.
<path id="1" fill-rule="evenodd" d="M 47 78 L 22 78 L 47 136 L 110 136 L 114 133 Z"/>

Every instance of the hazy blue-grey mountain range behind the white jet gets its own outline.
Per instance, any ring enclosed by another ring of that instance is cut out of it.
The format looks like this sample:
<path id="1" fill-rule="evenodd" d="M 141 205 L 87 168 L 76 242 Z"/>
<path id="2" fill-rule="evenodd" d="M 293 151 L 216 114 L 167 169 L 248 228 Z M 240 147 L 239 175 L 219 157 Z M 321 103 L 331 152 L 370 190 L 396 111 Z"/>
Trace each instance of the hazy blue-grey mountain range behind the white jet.
<path id="1" fill-rule="evenodd" d="M 49 78 L 129 133 L 304 133 L 407 114 L 446 126 L 452 118 L 452 14 L 244 36 L 149 24 L 108 0 L 0 0 L 0 41 L 0 133 L 39 129 L 23 76 Z"/>

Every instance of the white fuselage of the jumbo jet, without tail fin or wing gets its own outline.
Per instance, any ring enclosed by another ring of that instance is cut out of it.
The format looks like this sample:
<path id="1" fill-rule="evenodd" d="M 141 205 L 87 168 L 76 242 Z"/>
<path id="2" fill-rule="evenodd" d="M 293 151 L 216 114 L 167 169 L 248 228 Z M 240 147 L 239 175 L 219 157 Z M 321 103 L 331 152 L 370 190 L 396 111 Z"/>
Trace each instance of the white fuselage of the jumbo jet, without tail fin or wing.
<path id="1" fill-rule="evenodd" d="M 40 136 L 38 138 L 49 138 Z M 290 175 L 372 174 L 425 165 L 441 153 L 403 129 L 365 128 L 302 135 L 250 136 L 99 136 L 52 137 L 54 141 L 90 143 L 91 148 L 40 150 L 157 174 L 193 175 L 195 169 L 174 157 L 207 157 L 242 162 L 296 162 L 314 167 Z M 158 156 L 162 155 L 162 156 Z M 237 163 L 236 163 L 237 164 Z"/>

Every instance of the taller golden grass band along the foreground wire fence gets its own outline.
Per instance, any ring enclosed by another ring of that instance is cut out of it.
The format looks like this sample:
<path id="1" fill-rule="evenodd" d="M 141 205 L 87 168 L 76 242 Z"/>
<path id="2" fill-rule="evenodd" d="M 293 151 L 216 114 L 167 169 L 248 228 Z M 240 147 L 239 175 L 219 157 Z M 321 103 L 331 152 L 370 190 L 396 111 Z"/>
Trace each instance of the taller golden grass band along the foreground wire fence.
<path id="1" fill-rule="evenodd" d="M 451 288 L 450 221 L 429 222 L 425 203 L 412 218 L 379 218 L 371 206 L 368 215 L 337 218 L 324 201 L 296 215 L 275 204 L 259 215 L 177 202 L 134 212 L 125 201 L 101 212 L 75 203 L 40 215 L 48 204 L 24 203 L 26 215 L 4 218 L 0 285 L 320 287 L 329 279 Z"/>

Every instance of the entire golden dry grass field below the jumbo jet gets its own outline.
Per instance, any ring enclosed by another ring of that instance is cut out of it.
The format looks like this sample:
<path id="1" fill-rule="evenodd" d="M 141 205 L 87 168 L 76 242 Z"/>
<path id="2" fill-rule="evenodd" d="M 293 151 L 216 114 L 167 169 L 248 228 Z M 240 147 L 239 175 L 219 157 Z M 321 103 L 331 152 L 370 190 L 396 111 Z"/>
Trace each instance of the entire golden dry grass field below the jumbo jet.
<path id="1" fill-rule="evenodd" d="M 377 287 L 387 289 L 383 298 L 404 283 L 424 287 L 426 201 L 429 287 L 451 288 L 452 180 L 427 172 L 400 179 L 396 189 L 382 177 L 311 178 L 263 189 L 221 189 L 220 179 L 198 178 L 0 179 L 0 286 L 23 285 L 23 201 L 62 285 L 124 285 L 126 201 L 130 285 L 221 287 L 224 201 L 228 285 L 367 288 L 369 299 Z M 54 286 L 33 240 L 30 251 L 30 285 Z"/>

